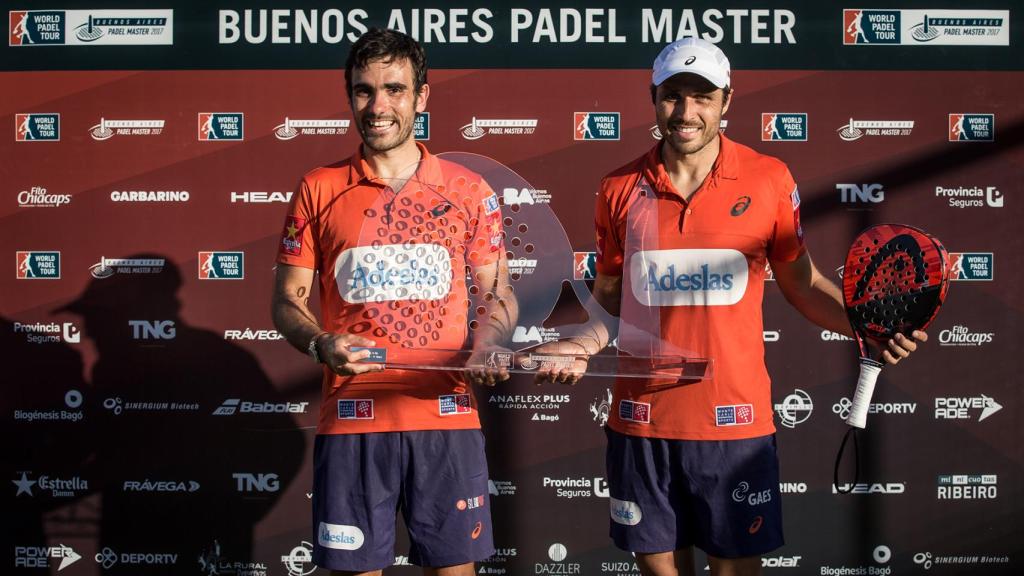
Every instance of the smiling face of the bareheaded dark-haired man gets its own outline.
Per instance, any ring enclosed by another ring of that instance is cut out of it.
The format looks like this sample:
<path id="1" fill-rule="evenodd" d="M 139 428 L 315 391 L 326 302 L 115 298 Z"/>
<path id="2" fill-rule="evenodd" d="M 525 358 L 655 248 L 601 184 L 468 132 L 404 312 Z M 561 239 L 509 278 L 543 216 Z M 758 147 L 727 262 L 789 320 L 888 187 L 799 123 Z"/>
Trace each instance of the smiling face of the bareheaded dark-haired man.
<path id="1" fill-rule="evenodd" d="M 409 59 L 375 59 L 351 75 L 355 127 L 370 151 L 387 152 L 413 143 L 416 114 L 427 108 L 430 87 L 419 92 Z"/>

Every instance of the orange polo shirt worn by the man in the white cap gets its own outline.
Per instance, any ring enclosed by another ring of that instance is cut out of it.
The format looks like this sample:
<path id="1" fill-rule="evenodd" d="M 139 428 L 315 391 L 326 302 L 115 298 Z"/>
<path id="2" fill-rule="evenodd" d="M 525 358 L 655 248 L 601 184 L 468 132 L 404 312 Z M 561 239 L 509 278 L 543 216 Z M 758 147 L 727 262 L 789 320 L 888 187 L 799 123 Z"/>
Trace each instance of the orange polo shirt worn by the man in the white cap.
<path id="1" fill-rule="evenodd" d="M 772 434 L 761 302 L 768 259 L 804 252 L 797 186 L 781 161 L 723 135 L 687 202 L 660 146 L 602 180 L 597 270 L 623 277 L 620 348 L 710 358 L 713 372 L 656 390 L 647 380 L 616 379 L 608 425 L 679 440 Z"/>

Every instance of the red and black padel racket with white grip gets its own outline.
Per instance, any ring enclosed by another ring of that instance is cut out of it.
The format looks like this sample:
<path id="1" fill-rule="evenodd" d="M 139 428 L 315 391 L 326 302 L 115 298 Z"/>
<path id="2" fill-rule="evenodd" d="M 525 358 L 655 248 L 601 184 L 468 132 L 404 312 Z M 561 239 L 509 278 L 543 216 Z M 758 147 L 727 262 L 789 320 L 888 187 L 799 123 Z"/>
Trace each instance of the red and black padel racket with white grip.
<path id="1" fill-rule="evenodd" d="M 860 353 L 860 375 L 846 423 L 863 428 L 882 363 L 869 340 L 909 336 L 935 319 L 949 288 L 949 254 L 936 238 L 904 224 L 860 233 L 843 271 L 843 301 Z"/>

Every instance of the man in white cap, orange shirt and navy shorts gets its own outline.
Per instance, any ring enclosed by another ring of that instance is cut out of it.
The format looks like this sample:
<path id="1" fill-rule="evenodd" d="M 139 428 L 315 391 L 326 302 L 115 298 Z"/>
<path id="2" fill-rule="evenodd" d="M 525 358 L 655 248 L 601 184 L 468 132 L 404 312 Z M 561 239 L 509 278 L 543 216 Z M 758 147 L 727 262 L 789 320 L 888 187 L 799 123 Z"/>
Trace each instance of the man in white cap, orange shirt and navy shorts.
<path id="1" fill-rule="evenodd" d="M 711 358 L 714 372 L 674 387 L 620 378 L 607 424 L 611 536 L 647 575 L 758 574 L 782 545 L 771 384 L 761 303 L 766 263 L 801 314 L 851 334 L 839 288 L 811 261 L 800 194 L 786 166 L 720 134 L 729 60 L 688 38 L 654 60 L 663 141 L 601 182 L 595 299 L 618 326 L 593 322 L 542 352 L 594 355 L 617 336 L 634 355 Z M 595 315 L 596 316 L 596 315 Z M 617 334 L 615 333 L 617 328 Z M 899 362 L 924 341 L 890 340 Z M 582 366 L 540 379 L 574 382 Z"/>

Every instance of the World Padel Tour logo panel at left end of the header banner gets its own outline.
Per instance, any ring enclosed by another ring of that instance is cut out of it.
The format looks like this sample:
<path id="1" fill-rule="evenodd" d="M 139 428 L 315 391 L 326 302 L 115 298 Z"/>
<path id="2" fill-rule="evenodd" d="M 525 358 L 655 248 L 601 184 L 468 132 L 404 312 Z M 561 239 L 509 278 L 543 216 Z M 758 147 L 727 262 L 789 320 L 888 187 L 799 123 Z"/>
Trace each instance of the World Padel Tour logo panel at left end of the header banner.
<path id="1" fill-rule="evenodd" d="M 11 10 L 10 46 L 170 45 L 174 10 Z"/>

